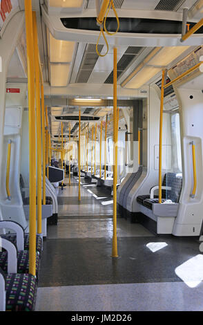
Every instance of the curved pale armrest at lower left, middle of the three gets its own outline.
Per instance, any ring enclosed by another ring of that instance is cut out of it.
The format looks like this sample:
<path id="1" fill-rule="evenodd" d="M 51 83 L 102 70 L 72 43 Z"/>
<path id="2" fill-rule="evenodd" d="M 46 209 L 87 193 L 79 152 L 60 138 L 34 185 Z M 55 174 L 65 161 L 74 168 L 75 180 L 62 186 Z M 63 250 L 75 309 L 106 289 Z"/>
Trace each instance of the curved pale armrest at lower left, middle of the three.
<path id="1" fill-rule="evenodd" d="M 0 239 L 0 246 L 8 253 L 8 273 L 17 273 L 17 249 L 15 245 L 5 238 Z"/>

